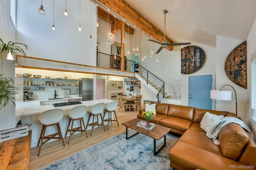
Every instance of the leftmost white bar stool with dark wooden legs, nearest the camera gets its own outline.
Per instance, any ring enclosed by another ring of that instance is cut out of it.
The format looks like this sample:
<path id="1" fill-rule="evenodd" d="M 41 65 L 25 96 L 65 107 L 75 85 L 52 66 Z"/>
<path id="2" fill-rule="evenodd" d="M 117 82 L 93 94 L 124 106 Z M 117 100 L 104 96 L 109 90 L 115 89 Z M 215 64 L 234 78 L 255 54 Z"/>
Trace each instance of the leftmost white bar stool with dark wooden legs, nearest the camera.
<path id="1" fill-rule="evenodd" d="M 51 139 L 61 139 L 62 143 L 63 143 L 63 146 L 65 146 L 65 143 L 64 143 L 64 140 L 63 140 L 63 137 L 62 137 L 62 133 L 61 133 L 61 130 L 60 130 L 60 124 L 59 124 L 59 122 L 63 118 L 63 115 L 64 115 L 64 112 L 62 111 L 62 109 L 52 109 L 52 110 L 44 111 L 39 116 L 38 121 L 43 124 L 43 127 L 42 127 L 40 138 L 39 138 L 39 141 L 38 141 L 38 144 L 37 144 L 37 146 L 39 146 L 40 140 L 41 140 L 38 156 L 40 155 L 42 145 L 45 144 L 46 142 L 48 142 Z M 46 127 L 54 126 L 54 125 L 57 126 L 58 132 L 54 133 L 54 134 L 49 134 L 47 136 L 44 136 L 44 134 L 46 132 Z M 55 137 L 57 135 L 59 135 L 59 137 Z M 44 141 L 44 139 L 47 139 L 47 140 Z"/>

